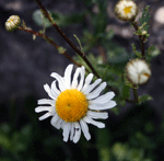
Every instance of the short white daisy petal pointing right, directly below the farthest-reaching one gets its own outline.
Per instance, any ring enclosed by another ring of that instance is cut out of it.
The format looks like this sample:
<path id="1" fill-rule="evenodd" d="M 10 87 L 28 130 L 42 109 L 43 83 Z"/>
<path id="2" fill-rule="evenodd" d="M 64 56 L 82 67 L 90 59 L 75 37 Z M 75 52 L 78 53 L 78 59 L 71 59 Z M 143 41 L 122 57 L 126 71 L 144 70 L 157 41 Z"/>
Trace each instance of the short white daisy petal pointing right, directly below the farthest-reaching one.
<path id="1" fill-rule="evenodd" d="M 89 111 L 87 116 L 90 116 L 91 118 L 102 118 L 102 119 L 106 119 L 108 117 L 108 114 L 103 112 L 103 113 L 99 113 L 99 112 L 92 112 L 92 111 Z"/>

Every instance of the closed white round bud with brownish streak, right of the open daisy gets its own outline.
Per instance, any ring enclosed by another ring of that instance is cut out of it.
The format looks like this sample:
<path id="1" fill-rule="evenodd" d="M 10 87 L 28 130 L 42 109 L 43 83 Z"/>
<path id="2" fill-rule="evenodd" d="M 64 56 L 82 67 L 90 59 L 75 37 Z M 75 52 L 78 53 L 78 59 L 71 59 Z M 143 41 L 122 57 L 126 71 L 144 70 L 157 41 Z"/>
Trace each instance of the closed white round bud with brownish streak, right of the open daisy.
<path id="1" fill-rule="evenodd" d="M 148 82 L 151 77 L 151 69 L 145 60 L 132 59 L 126 66 L 128 80 L 134 85 L 141 85 Z"/>

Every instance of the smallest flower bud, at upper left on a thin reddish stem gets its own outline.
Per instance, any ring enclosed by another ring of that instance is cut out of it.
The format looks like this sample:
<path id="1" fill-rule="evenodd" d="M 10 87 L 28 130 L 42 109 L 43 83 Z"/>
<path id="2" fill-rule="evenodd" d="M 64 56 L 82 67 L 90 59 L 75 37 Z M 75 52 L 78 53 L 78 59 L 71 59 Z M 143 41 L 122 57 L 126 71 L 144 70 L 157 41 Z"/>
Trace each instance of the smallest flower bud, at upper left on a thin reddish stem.
<path id="1" fill-rule="evenodd" d="M 5 30 L 12 32 L 17 28 L 21 23 L 19 15 L 11 15 L 5 22 Z"/>

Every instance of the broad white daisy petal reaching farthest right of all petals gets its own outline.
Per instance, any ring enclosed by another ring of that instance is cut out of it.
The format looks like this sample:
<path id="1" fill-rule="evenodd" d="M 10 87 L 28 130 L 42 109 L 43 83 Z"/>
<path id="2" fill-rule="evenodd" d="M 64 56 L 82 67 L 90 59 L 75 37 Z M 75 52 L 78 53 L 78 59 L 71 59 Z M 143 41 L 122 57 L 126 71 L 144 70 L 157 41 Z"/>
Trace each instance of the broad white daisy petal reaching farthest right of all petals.
<path id="1" fill-rule="evenodd" d="M 103 111 L 103 110 L 109 110 L 114 106 L 116 106 L 116 102 L 115 101 L 110 101 L 106 104 L 90 104 L 89 108 L 90 110 L 95 110 L 95 111 Z"/>

